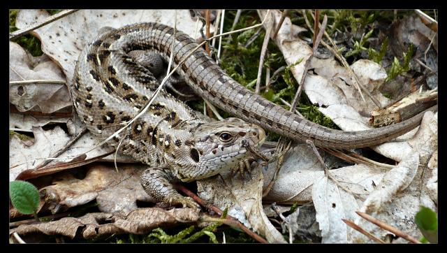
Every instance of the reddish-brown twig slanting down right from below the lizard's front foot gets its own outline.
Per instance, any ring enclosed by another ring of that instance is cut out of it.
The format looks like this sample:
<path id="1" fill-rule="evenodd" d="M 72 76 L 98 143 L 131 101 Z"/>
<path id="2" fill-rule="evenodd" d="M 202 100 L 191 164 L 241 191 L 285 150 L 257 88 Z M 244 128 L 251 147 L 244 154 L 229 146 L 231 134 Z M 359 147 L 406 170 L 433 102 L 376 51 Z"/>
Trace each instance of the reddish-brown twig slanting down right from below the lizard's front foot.
<path id="1" fill-rule="evenodd" d="M 190 196 L 191 198 L 193 198 L 195 201 L 197 201 L 197 203 L 199 203 L 200 205 L 202 205 L 203 207 L 207 208 L 207 210 L 212 210 L 213 212 L 216 212 L 217 215 L 222 215 L 223 212 L 222 210 L 220 210 L 217 206 L 212 205 L 210 203 L 207 203 L 207 201 L 204 201 L 202 198 L 199 198 L 196 194 L 194 194 L 192 191 L 190 191 L 189 189 L 186 189 L 186 187 L 184 187 L 183 185 L 177 185 L 176 186 L 177 189 L 179 189 L 180 191 L 182 191 L 184 194 L 186 194 L 187 196 Z M 259 236 L 257 233 L 254 233 L 253 231 L 251 231 L 250 229 L 247 228 L 247 226 L 244 226 L 242 223 L 240 223 L 240 221 L 238 219 L 236 219 L 235 217 L 232 217 L 231 215 L 227 215 L 226 219 L 228 220 L 229 223 L 226 223 L 230 226 L 236 226 L 238 229 L 242 229 L 242 231 L 244 231 L 245 233 L 247 233 L 247 235 L 251 236 L 251 238 L 254 238 L 255 240 L 257 240 L 259 243 L 268 243 L 267 240 L 265 240 L 264 238 L 262 238 L 261 236 Z"/>

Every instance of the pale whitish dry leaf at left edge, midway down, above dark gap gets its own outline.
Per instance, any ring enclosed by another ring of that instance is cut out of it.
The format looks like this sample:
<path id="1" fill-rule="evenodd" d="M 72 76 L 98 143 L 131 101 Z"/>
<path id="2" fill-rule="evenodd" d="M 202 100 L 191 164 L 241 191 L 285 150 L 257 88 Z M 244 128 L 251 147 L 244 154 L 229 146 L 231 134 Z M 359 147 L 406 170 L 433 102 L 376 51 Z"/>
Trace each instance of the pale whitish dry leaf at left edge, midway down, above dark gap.
<path id="1" fill-rule="evenodd" d="M 44 131 L 41 127 L 32 127 L 34 143 L 24 143 L 13 135 L 9 142 L 9 180 L 27 169 L 36 168 L 43 163 L 42 158 L 52 157 L 68 143 L 70 138 L 60 127 Z M 38 159 L 38 160 L 35 160 Z"/>

